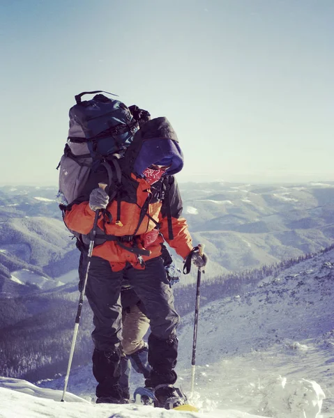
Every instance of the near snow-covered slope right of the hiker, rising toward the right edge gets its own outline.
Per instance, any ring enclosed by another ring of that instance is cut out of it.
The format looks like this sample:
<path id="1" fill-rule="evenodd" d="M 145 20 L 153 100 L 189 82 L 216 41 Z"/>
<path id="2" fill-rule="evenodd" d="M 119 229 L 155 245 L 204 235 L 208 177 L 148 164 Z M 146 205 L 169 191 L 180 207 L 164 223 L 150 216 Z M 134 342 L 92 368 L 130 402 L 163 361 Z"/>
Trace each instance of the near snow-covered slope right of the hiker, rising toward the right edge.
<path id="1" fill-rule="evenodd" d="M 262 281 L 249 293 L 202 307 L 198 392 L 220 407 L 233 404 L 271 416 L 275 407 L 268 399 L 280 387 L 280 376 L 292 386 L 305 378 L 321 385 L 326 394 L 324 417 L 333 417 L 333 304 L 331 250 Z M 192 327 L 192 316 L 183 318 L 183 367 L 190 364 Z"/>

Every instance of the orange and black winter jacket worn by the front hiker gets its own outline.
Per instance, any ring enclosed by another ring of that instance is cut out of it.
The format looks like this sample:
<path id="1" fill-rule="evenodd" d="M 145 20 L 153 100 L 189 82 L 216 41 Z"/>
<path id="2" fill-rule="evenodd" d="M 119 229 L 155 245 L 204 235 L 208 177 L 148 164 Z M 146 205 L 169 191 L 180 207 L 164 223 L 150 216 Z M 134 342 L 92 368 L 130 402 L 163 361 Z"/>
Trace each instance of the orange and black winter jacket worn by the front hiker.
<path id="1" fill-rule="evenodd" d="M 82 203 L 74 204 L 70 210 L 66 211 L 64 221 L 68 229 L 76 231 L 81 234 L 88 234 L 93 228 L 93 220 L 95 212 L 89 208 L 89 193 L 95 187 L 98 187 L 98 181 L 103 179 L 94 179 L 94 187 L 90 187 L 86 191 L 86 200 Z M 145 249 L 150 251 L 149 256 L 143 256 L 144 261 L 150 258 L 155 258 L 161 254 L 161 244 L 164 240 L 176 250 L 177 254 L 182 258 L 186 258 L 192 249 L 192 239 L 188 231 L 188 225 L 183 217 L 182 201 L 179 194 L 179 187 L 176 184 L 174 176 L 168 176 L 167 180 L 160 180 L 155 185 L 150 186 L 144 178 L 138 178 L 133 173 L 131 175 L 131 181 L 133 184 L 133 190 L 129 191 L 129 195 L 132 193 L 132 197 L 126 196 L 121 200 L 121 223 L 123 226 L 115 224 L 117 217 L 117 201 L 116 199 L 108 204 L 107 211 L 112 215 L 112 222 L 104 222 L 102 217 L 98 220 L 98 227 L 104 229 L 108 235 L 117 235 L 119 237 L 123 235 L 136 234 L 136 245 L 139 249 L 144 248 L 144 240 L 146 235 L 155 229 L 156 224 L 159 224 L 159 231 L 162 234 L 158 235 L 156 239 L 151 242 Z M 173 239 L 169 239 L 169 227 L 168 227 L 168 206 L 167 203 L 160 199 L 162 185 L 165 182 L 169 185 L 169 210 L 171 212 L 171 225 L 173 232 Z M 92 183 L 91 183 L 92 184 Z M 106 189 L 107 190 L 107 189 Z M 136 193 L 133 196 L 133 193 Z M 151 199 L 146 214 L 141 224 L 139 224 L 139 215 L 141 208 L 146 202 L 146 199 Z M 153 220 L 154 219 L 154 220 Z M 137 229 L 137 232 L 135 232 Z M 123 245 L 130 247 L 131 244 L 124 242 Z M 126 262 L 129 262 L 133 267 L 142 269 L 138 262 L 136 254 L 133 254 L 126 249 L 119 246 L 116 241 L 105 241 L 101 245 L 96 245 L 93 249 L 93 256 L 98 256 L 108 260 L 112 265 L 113 271 L 122 270 Z"/>

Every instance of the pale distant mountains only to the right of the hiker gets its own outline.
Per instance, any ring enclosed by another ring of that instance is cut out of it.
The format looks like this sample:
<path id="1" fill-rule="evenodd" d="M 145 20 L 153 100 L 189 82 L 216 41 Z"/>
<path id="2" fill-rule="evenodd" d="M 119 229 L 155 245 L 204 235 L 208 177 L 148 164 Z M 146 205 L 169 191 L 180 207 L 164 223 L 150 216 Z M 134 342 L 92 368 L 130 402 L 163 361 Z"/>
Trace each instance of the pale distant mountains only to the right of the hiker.
<path id="1" fill-rule="evenodd" d="M 227 270 L 296 258 L 334 240 L 334 183 L 181 185 L 195 242 Z"/>

